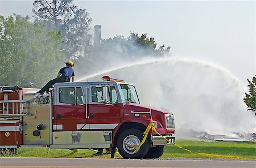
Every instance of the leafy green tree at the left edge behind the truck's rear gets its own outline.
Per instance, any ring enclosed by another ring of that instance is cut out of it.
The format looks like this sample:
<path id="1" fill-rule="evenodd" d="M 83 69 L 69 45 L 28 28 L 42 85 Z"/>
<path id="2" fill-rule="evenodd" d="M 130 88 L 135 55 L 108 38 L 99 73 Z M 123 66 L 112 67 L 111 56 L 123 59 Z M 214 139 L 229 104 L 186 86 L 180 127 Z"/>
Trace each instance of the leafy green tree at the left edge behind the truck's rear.
<path id="1" fill-rule="evenodd" d="M 0 85 L 28 87 L 31 81 L 35 87 L 42 87 L 63 65 L 61 32 L 46 32 L 43 24 L 29 19 L 0 16 Z"/>

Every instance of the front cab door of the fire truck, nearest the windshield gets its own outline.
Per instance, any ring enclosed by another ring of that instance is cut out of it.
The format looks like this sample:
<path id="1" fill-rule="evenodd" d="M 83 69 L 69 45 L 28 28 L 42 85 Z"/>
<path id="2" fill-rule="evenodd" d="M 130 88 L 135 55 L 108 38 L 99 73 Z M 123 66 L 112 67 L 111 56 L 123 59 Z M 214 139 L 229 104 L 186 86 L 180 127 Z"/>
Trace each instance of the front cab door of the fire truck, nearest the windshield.
<path id="1" fill-rule="evenodd" d="M 120 123 L 120 107 L 115 85 L 90 85 L 88 107 L 90 130 L 113 130 Z"/>

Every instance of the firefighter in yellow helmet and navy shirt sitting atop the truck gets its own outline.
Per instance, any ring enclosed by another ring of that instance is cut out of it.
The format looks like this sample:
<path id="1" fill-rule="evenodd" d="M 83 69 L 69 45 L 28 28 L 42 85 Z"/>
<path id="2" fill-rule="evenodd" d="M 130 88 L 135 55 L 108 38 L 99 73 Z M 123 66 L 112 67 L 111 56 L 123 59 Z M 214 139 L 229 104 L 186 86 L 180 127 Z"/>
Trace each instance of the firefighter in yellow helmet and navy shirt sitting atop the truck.
<path id="1" fill-rule="evenodd" d="M 50 80 L 40 91 L 36 93 L 43 94 L 44 92 L 48 91 L 48 89 L 51 88 L 55 83 L 69 82 L 70 80 L 72 82 L 75 81 L 75 72 L 72 69 L 72 67 L 74 67 L 74 63 L 70 60 L 64 63 L 66 64 L 66 67 L 60 69 L 57 77 Z"/>

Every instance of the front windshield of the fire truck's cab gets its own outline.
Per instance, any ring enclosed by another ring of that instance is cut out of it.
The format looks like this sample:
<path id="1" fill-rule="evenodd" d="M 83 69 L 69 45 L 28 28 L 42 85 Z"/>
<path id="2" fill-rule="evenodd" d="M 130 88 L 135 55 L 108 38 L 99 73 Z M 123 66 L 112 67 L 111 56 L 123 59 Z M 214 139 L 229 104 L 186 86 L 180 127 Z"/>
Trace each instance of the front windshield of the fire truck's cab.
<path id="1" fill-rule="evenodd" d="M 118 84 L 118 89 L 123 103 L 139 104 L 139 98 L 134 86 Z"/>

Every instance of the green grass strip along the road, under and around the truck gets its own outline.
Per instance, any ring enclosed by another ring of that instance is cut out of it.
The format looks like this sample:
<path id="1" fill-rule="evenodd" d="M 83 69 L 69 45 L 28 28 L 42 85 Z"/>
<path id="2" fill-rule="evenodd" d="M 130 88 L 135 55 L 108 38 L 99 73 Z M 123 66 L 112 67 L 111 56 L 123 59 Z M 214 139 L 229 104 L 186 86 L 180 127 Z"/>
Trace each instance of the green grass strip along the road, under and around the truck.
<path id="1" fill-rule="evenodd" d="M 179 140 L 176 144 L 192 150 L 193 152 L 220 154 L 225 156 L 236 156 L 248 159 L 256 159 L 255 143 L 233 143 L 233 142 L 204 142 L 192 140 Z M 105 152 L 105 151 L 104 151 Z M 19 148 L 18 154 L 7 154 L 1 157 L 55 157 L 55 158 L 110 158 L 110 154 L 103 156 L 94 156 L 96 153 L 89 149 L 49 149 L 47 148 Z M 187 157 L 187 158 L 209 158 L 196 153 L 189 153 L 174 145 L 168 145 L 161 158 Z M 115 158 L 122 158 L 120 154 L 115 153 Z"/>

